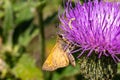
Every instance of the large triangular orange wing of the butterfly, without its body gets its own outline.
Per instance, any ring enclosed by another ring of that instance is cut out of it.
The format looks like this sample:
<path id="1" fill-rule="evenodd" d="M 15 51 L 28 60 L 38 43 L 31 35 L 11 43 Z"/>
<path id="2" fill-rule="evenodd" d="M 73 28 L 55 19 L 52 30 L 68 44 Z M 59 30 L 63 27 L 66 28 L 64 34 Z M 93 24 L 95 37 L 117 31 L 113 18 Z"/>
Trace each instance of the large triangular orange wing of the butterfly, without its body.
<path id="1" fill-rule="evenodd" d="M 57 42 L 49 54 L 48 58 L 43 64 L 42 69 L 47 71 L 53 71 L 57 68 L 65 67 L 69 65 L 67 54 L 62 48 L 62 44 Z"/>

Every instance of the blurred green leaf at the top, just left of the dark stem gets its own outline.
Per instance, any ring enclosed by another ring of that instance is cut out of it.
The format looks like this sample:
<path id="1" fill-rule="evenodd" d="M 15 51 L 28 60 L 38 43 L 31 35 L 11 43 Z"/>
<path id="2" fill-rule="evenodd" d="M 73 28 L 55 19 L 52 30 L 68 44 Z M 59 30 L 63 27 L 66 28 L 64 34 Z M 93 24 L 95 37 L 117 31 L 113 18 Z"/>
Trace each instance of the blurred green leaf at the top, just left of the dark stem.
<path id="1" fill-rule="evenodd" d="M 22 5 L 22 6 L 21 6 Z M 16 13 L 16 23 L 20 23 L 24 20 L 29 20 L 34 17 L 35 8 L 40 6 L 40 2 L 35 1 L 18 1 L 13 4 L 13 10 Z"/>

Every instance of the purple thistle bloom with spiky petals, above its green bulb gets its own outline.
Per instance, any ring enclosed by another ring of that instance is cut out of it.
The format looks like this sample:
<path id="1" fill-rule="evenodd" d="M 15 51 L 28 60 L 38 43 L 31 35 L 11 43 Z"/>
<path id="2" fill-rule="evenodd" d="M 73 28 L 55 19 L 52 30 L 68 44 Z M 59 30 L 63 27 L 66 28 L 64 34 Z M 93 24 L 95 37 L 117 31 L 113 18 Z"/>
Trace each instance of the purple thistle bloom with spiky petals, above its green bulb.
<path id="1" fill-rule="evenodd" d="M 120 2 L 67 2 L 67 7 L 62 15 L 59 15 L 62 35 L 70 42 L 80 46 L 82 52 L 78 57 L 89 51 L 111 56 L 115 62 L 119 62 L 120 54 Z"/>

